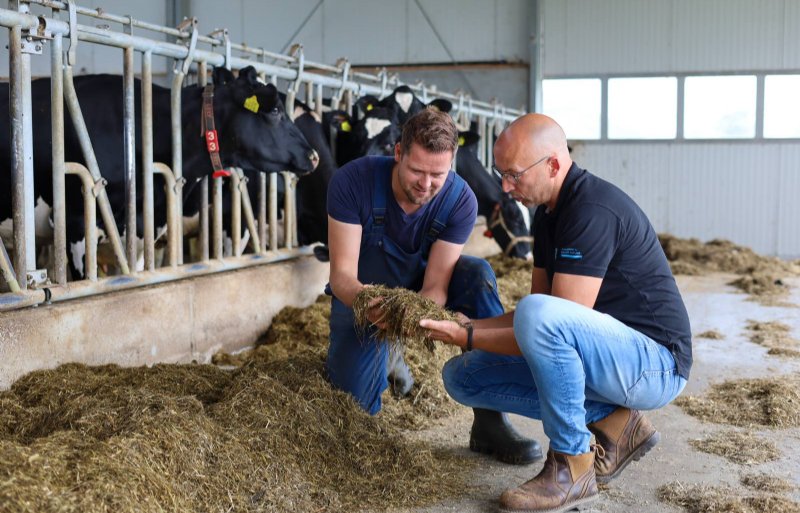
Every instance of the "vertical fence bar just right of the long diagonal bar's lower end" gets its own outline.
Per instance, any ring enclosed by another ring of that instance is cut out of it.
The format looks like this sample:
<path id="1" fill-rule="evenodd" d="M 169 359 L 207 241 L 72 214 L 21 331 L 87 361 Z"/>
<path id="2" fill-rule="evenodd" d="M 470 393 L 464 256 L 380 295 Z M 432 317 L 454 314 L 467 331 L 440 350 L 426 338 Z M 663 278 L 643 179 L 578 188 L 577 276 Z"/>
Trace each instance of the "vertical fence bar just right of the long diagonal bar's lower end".
<path id="1" fill-rule="evenodd" d="M 155 219 L 153 213 L 153 54 L 142 54 L 142 199 L 144 208 L 144 268 L 155 264 Z"/>

